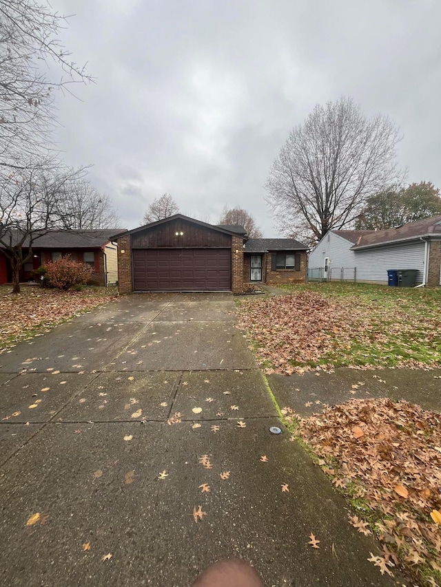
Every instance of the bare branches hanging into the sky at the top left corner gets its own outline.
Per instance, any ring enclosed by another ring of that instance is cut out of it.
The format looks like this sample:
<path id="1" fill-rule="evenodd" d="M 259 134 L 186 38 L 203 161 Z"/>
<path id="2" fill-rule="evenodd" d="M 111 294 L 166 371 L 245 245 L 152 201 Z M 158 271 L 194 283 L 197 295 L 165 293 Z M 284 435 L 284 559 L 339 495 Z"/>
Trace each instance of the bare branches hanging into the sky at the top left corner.
<path id="1" fill-rule="evenodd" d="M 45 151 L 56 120 L 55 90 L 92 80 L 59 40 L 66 24 L 36 0 L 0 2 L 0 166 L 21 168 L 23 155 Z"/>

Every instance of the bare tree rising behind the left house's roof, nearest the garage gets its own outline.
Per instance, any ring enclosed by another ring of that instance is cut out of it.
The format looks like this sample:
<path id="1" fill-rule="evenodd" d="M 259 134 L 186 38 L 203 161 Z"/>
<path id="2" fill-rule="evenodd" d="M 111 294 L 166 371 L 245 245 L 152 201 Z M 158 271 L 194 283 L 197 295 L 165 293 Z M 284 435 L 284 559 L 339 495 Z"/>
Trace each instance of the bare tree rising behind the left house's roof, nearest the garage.
<path id="1" fill-rule="evenodd" d="M 66 229 L 115 228 L 119 216 L 108 195 L 101 195 L 88 180 L 72 175 L 63 186 L 60 217 Z"/>

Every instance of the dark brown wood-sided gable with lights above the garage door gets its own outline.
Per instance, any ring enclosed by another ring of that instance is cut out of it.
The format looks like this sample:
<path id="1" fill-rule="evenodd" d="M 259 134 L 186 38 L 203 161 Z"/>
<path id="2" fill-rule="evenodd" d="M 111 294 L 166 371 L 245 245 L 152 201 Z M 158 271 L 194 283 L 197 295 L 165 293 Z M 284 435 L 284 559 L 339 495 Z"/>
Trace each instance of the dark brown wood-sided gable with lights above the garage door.
<path id="1" fill-rule="evenodd" d="M 231 235 L 212 231 L 181 219 L 146 228 L 145 231 L 132 235 L 132 248 L 231 248 L 231 246 Z"/>

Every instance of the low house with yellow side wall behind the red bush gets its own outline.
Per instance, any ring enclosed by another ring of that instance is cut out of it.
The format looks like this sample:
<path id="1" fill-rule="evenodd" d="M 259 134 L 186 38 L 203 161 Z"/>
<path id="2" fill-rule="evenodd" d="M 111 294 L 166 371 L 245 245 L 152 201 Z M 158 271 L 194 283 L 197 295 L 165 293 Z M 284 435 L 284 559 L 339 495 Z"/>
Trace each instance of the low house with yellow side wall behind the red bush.
<path id="1" fill-rule="evenodd" d="M 89 281 L 92 285 L 110 285 L 118 281 L 118 262 L 116 243 L 112 235 L 118 228 L 95 230 L 50 231 L 34 240 L 32 259 L 20 271 L 20 281 L 35 279 L 34 270 L 47 261 L 70 255 L 71 259 L 90 265 L 94 273 Z M 10 262 L 1 250 L 0 244 L 0 284 L 12 281 Z M 23 256 L 28 253 L 26 242 Z"/>

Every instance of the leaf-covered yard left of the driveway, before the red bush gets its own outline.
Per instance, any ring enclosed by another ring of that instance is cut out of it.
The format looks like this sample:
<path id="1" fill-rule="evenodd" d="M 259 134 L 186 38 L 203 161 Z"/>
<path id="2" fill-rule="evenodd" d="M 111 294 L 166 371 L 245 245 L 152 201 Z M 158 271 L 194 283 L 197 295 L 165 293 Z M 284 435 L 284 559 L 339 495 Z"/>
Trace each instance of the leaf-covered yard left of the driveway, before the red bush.
<path id="1" fill-rule="evenodd" d="M 25 339 L 37 327 L 47 328 L 59 321 L 110 301 L 116 290 L 93 288 L 79 292 L 23 287 L 18 295 L 11 288 L 0 289 L 0 350 L 8 343 Z"/>

